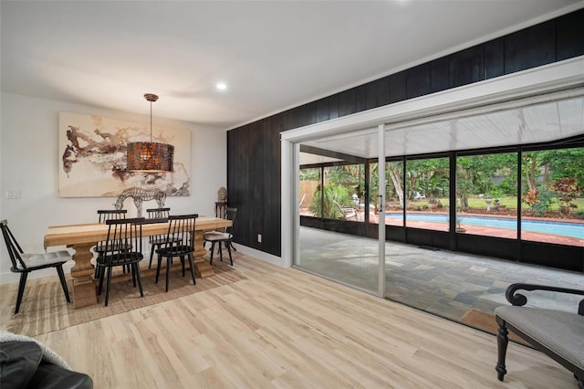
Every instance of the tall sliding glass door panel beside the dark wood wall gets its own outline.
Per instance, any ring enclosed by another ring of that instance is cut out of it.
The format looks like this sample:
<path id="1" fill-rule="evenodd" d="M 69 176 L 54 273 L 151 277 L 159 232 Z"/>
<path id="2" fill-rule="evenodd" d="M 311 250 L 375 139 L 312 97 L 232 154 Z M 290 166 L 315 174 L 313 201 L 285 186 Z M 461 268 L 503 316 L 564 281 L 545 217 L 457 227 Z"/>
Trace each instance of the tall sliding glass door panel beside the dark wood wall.
<path id="1" fill-rule="evenodd" d="M 323 137 L 298 144 L 293 265 L 380 294 L 380 240 L 377 225 L 371 225 L 379 220 L 379 177 L 369 163 L 378 157 L 377 130 L 343 134 L 342 142 L 338 140 Z M 369 145 L 367 154 L 339 147 L 363 142 Z"/>

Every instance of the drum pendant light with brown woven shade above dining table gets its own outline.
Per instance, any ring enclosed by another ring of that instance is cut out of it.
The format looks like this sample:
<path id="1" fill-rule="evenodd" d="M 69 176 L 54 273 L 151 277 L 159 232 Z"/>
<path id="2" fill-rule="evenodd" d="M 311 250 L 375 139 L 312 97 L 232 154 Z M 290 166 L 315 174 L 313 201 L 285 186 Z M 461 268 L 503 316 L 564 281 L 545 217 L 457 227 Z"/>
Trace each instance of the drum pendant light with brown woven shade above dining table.
<path id="1" fill-rule="evenodd" d="M 127 169 L 130 172 L 170 173 L 172 172 L 174 146 L 152 142 L 152 102 L 158 100 L 158 96 L 146 93 L 144 99 L 150 101 L 150 142 L 128 143 Z"/>

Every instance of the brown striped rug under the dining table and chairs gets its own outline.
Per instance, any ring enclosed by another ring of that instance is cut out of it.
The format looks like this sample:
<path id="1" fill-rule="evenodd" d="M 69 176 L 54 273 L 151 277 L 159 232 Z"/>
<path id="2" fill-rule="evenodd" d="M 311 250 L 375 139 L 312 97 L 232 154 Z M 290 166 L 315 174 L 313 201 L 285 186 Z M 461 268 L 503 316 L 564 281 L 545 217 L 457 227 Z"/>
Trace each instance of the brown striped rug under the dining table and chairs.
<path id="1" fill-rule="evenodd" d="M 196 279 L 196 285 L 193 285 L 188 269 L 186 277 L 183 278 L 180 266 L 178 268 L 178 271 L 172 270 L 167 293 L 164 291 L 163 274 L 158 284 L 154 283 L 152 277 L 142 278 L 143 298 L 140 297 L 139 289 L 133 288 L 131 280 L 112 283 L 107 307 L 103 303 L 104 290 L 101 296 L 98 296 L 97 305 L 75 309 L 72 303 L 68 304 L 65 300 L 58 278 L 51 277 L 26 282 L 25 296 L 20 311 L 15 315 L 17 284 L 1 285 L 0 326 L 7 331 L 36 336 L 246 279 L 239 271 L 219 262 L 213 264 L 215 272 L 213 277 Z M 71 287 L 72 281 L 68 279 L 69 293 Z"/>

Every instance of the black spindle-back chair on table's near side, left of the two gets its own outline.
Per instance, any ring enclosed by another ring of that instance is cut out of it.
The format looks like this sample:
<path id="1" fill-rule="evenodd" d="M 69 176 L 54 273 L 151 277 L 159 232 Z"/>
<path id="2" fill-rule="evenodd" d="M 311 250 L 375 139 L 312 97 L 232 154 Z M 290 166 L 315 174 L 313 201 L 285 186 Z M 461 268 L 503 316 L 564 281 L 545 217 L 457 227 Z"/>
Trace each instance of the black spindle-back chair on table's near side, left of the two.
<path id="1" fill-rule="evenodd" d="M 103 249 L 100 251 L 96 261 L 96 265 L 99 268 L 98 273 L 101 276 L 99 278 L 98 295 L 101 294 L 103 279 L 108 279 L 106 284 L 106 307 L 110 300 L 111 270 L 117 266 L 122 268 L 130 267 L 132 283 L 136 287 L 136 281 L 138 281 L 140 297 L 144 297 L 140 273 L 140 261 L 144 258 L 141 253 L 143 223 L 143 217 L 106 221 L 108 237 L 104 241 Z M 120 247 L 132 248 L 120 250 Z"/>

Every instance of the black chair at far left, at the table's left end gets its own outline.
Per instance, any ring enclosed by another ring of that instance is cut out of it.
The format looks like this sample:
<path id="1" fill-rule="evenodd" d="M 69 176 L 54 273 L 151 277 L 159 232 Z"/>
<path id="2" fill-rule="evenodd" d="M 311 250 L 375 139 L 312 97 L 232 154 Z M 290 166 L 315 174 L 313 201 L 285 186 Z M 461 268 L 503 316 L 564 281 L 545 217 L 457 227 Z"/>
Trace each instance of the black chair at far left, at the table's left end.
<path id="1" fill-rule="evenodd" d="M 22 302 L 22 297 L 25 293 L 28 274 L 35 270 L 40 270 L 41 268 L 57 269 L 58 279 L 61 281 L 61 288 L 63 288 L 63 292 L 65 293 L 65 299 L 67 302 L 71 302 L 67 288 L 67 281 L 65 280 L 65 273 L 63 272 L 63 264 L 72 258 L 68 251 L 60 250 L 42 254 L 26 254 L 16 241 L 16 237 L 12 234 L 10 228 L 8 228 L 8 222 L 2 220 L 0 222 L 0 227 L 2 228 L 2 236 L 4 237 L 6 248 L 8 249 L 8 256 L 12 262 L 12 268 L 10 268 L 10 271 L 13 273 L 20 273 L 15 315 L 18 313 L 18 310 L 20 310 L 20 303 Z"/>

